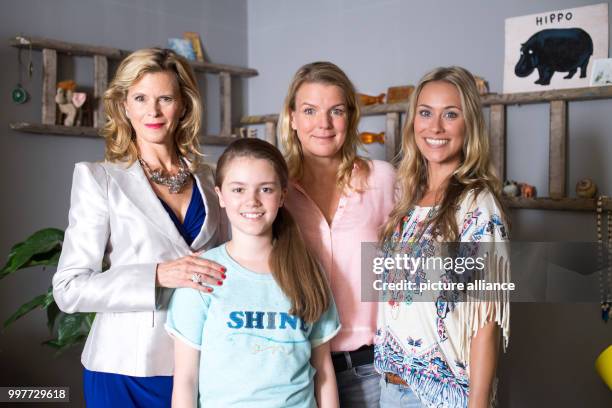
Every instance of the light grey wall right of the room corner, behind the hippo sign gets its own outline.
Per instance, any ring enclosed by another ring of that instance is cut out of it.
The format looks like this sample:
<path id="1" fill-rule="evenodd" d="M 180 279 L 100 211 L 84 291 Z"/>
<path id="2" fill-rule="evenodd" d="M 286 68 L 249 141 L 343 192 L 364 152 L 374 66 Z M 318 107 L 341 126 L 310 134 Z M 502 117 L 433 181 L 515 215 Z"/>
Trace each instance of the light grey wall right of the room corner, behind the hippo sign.
<path id="1" fill-rule="evenodd" d="M 249 80 L 252 115 L 280 110 L 287 86 L 301 65 L 330 60 L 359 91 L 386 92 L 415 84 L 436 66 L 461 65 L 501 92 L 504 19 L 598 1 L 258 0 L 248 2 Z M 610 2 L 608 1 L 608 4 Z M 590 176 L 612 194 L 612 100 L 570 104 L 569 181 Z M 548 182 L 548 106 L 508 109 L 508 176 L 536 185 Z M 382 131 L 382 118 L 365 118 L 362 131 Z M 384 157 L 380 146 L 371 156 Z M 593 241 L 594 215 L 517 210 L 513 238 Z M 510 349 L 502 357 L 503 407 L 609 406 L 610 391 L 593 370 L 612 339 L 612 326 L 597 304 L 515 304 Z"/>

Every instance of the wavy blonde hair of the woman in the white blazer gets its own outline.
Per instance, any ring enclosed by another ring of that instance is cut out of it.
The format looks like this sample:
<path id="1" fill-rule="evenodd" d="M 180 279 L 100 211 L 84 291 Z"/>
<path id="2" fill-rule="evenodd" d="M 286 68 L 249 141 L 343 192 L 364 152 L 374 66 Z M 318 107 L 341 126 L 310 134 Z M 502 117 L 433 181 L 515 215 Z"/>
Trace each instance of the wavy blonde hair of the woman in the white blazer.
<path id="1" fill-rule="evenodd" d="M 179 154 L 190 159 L 193 170 L 202 156 L 198 138 L 202 123 L 200 91 L 189 62 L 174 51 L 163 48 L 146 48 L 128 55 L 121 61 L 104 92 L 106 123 L 101 134 L 106 140 L 105 158 L 129 164 L 138 158 L 136 135 L 126 116 L 124 103 L 132 85 L 145 74 L 157 72 L 169 72 L 176 78 L 185 113 L 175 129 L 174 141 Z"/>

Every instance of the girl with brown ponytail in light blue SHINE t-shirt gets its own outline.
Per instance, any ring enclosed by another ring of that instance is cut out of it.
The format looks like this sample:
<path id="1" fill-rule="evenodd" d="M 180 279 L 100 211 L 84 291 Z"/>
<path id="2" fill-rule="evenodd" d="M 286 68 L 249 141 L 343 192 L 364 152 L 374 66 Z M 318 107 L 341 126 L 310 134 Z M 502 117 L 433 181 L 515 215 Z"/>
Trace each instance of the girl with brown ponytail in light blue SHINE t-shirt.
<path id="1" fill-rule="evenodd" d="M 172 297 L 174 407 L 196 406 L 198 390 L 202 406 L 337 407 L 328 342 L 340 323 L 325 274 L 283 208 L 287 184 L 281 153 L 265 141 L 237 140 L 219 158 L 215 190 L 232 239 L 202 257 L 225 265 L 228 278 L 210 294 Z"/>

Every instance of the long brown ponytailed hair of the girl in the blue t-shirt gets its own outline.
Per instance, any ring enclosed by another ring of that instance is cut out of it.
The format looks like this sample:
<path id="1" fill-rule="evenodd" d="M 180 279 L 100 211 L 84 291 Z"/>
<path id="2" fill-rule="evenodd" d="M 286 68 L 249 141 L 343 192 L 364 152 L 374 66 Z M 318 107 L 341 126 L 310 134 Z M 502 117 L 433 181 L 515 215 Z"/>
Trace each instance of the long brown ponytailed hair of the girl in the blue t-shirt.
<path id="1" fill-rule="evenodd" d="M 289 171 L 281 152 L 260 139 L 238 139 L 232 142 L 217 162 L 215 185 L 221 188 L 230 163 L 240 157 L 266 160 L 274 168 L 281 188 L 289 185 Z M 275 239 L 269 264 L 272 276 L 291 302 L 289 313 L 305 322 L 315 322 L 331 303 L 325 273 L 310 254 L 293 217 L 284 207 L 279 208 L 272 224 Z"/>

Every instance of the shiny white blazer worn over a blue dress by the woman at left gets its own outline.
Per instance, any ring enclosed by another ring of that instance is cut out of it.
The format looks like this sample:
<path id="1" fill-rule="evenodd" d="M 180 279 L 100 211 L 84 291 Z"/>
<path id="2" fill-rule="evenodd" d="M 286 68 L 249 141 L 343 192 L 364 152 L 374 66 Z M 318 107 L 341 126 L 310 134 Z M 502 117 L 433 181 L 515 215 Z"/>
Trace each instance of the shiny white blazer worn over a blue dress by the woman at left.
<path id="1" fill-rule="evenodd" d="M 53 297 L 66 313 L 96 312 L 81 356 L 88 370 L 172 375 L 173 342 L 164 323 L 173 291 L 155 287 L 156 265 L 227 238 L 212 170 L 202 166 L 195 180 L 206 218 L 189 247 L 138 162 L 76 164 Z M 110 265 L 105 272 L 103 261 Z"/>

